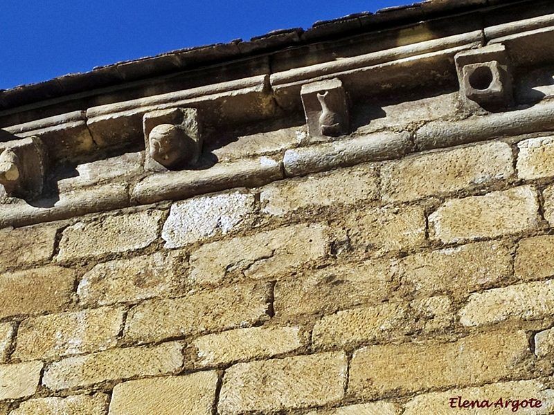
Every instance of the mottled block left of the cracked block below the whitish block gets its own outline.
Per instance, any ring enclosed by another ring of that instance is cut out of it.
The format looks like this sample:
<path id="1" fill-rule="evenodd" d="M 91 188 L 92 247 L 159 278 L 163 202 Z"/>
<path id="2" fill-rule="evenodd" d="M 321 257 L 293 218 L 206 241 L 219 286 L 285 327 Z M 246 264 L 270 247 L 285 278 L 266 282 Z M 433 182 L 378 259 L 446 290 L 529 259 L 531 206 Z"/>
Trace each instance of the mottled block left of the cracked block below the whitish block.
<path id="1" fill-rule="evenodd" d="M 98 264 L 84 274 L 77 289 L 84 306 L 137 302 L 179 291 L 186 264 L 178 252 L 155 252 Z"/>

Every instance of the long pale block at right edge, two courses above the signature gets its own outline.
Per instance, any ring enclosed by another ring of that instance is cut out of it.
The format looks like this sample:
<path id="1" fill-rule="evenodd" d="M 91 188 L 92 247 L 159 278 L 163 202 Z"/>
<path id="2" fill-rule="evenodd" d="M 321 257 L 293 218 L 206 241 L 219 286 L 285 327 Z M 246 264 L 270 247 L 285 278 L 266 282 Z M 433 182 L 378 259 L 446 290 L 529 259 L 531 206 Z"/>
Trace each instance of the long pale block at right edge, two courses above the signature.
<path id="1" fill-rule="evenodd" d="M 475 293 L 460 311 L 464 326 L 554 315 L 554 280 L 528 282 Z"/>

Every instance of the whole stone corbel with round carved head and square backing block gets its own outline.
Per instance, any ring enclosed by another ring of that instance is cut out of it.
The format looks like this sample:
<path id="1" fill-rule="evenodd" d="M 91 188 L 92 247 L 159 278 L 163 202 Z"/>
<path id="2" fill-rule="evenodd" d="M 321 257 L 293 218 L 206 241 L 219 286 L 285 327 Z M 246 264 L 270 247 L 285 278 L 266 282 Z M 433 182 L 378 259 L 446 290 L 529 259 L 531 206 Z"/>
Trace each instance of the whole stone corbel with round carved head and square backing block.
<path id="1" fill-rule="evenodd" d="M 195 108 L 152 111 L 143 116 L 145 170 L 163 172 L 194 165 L 202 153 L 202 123 Z"/>

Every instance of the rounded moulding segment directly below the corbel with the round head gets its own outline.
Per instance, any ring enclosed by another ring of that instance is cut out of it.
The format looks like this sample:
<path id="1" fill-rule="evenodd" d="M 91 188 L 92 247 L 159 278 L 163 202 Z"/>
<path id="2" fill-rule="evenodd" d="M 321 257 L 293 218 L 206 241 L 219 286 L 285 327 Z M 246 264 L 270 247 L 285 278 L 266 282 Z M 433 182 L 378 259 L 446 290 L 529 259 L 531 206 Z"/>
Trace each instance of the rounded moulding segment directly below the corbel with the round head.
<path id="1" fill-rule="evenodd" d="M 152 174 L 135 185 L 132 197 L 141 204 L 186 199 L 233 187 L 256 187 L 283 178 L 280 160 L 270 157 L 220 163 L 206 170 Z"/>

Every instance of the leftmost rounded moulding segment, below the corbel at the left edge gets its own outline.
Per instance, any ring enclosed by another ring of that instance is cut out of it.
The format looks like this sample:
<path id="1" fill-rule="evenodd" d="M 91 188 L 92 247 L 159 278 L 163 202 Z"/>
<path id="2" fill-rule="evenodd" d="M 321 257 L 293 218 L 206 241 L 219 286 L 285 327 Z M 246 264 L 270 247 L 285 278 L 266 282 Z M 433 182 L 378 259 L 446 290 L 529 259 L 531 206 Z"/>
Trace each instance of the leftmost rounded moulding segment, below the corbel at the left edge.
<path id="1" fill-rule="evenodd" d="M 16 203 L 0 204 L 0 228 L 58 221 L 129 206 L 127 185 L 123 184 L 84 188 L 75 192 L 62 193 L 59 198 L 42 199 L 34 205 L 21 199 Z"/>

